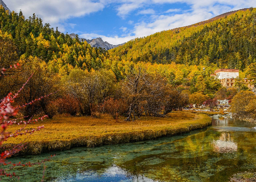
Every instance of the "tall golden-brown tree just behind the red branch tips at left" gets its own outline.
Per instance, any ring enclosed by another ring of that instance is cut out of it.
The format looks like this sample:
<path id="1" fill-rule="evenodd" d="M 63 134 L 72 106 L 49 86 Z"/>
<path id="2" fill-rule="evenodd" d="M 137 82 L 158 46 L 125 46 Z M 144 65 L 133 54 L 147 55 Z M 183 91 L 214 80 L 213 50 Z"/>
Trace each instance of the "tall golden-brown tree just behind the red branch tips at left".
<path id="1" fill-rule="evenodd" d="M 23 66 L 23 71 L 19 74 L 20 83 L 24 82 L 30 75 L 33 77 L 26 84 L 25 89 L 21 91 L 19 103 L 30 103 L 31 101 L 41 97 L 49 95 L 58 91 L 59 76 L 47 69 L 45 62 L 38 58 L 30 57 L 26 66 Z M 42 98 L 35 104 L 28 105 L 22 109 L 24 116 L 27 119 L 31 118 L 35 114 L 43 111 L 49 118 L 54 115 L 51 103 L 57 94 Z"/>

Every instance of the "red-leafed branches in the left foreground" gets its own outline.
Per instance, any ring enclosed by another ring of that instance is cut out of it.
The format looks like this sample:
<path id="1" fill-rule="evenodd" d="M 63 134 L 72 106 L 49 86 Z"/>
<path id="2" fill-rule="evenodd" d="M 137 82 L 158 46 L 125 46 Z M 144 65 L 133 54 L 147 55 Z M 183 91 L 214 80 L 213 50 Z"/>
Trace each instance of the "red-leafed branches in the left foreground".
<path id="1" fill-rule="evenodd" d="M 15 69 L 19 68 L 19 64 L 14 65 L 13 66 Z M 9 69 L 13 68 L 12 66 Z M 6 69 L 3 68 L 0 70 L 1 74 L 4 75 Z M 14 102 L 14 100 L 16 99 L 16 97 L 19 95 L 19 93 L 24 89 L 25 85 L 28 83 L 28 81 L 32 78 L 33 74 L 27 79 L 27 82 L 21 87 L 21 89 L 16 93 L 16 94 L 12 94 L 9 93 L 5 98 L 3 98 L 2 100 L 0 100 L 0 147 L 4 144 L 4 142 L 8 141 L 9 138 L 11 137 L 17 137 L 17 136 L 22 136 L 22 135 L 27 135 L 27 134 L 32 134 L 35 131 L 39 131 L 41 129 L 44 128 L 44 126 L 38 126 L 37 128 L 33 128 L 30 130 L 25 130 L 27 124 L 30 123 L 35 123 L 39 120 L 43 120 L 44 118 L 47 117 L 46 116 L 42 116 L 39 117 L 38 119 L 30 119 L 28 121 L 24 120 L 24 117 L 22 118 L 15 118 L 15 119 L 10 119 L 11 117 L 16 117 L 19 109 L 26 107 L 30 104 L 33 104 L 36 101 L 40 101 L 41 99 L 43 99 L 44 97 L 47 96 L 42 96 L 30 103 L 25 103 L 22 106 L 12 106 L 12 103 Z M 51 95 L 51 94 L 49 94 Z M 48 95 L 48 96 L 49 96 Z M 22 125 L 22 127 L 14 132 L 7 132 L 7 128 L 11 125 Z M 21 163 L 17 163 L 17 164 L 13 164 L 11 162 L 7 162 L 7 158 L 10 158 L 11 156 L 17 154 L 18 152 L 20 152 L 21 150 L 25 149 L 26 143 L 20 143 L 18 145 L 16 145 L 15 147 L 11 148 L 11 150 L 6 150 L 5 152 L 2 152 L 0 155 L 0 176 L 5 176 L 5 177 L 17 177 L 16 174 L 10 173 L 9 171 L 11 169 L 13 169 L 14 167 L 17 166 L 33 166 L 36 164 L 42 164 L 46 161 L 48 161 L 49 159 L 45 159 L 41 162 L 37 162 L 37 163 L 25 163 L 25 164 L 21 164 Z M 6 168 L 4 168 L 6 166 Z M 8 170 L 8 172 L 7 172 Z"/>

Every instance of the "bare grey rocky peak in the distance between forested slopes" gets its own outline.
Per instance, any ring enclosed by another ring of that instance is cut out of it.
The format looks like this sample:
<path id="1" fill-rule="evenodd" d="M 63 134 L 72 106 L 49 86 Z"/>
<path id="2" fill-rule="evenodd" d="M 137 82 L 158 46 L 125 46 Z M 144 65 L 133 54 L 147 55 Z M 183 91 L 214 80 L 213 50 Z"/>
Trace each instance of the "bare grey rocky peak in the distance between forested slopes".
<path id="1" fill-rule="evenodd" d="M 76 34 L 74 34 L 74 33 L 73 34 L 69 34 L 69 36 L 72 39 L 76 38 Z M 123 44 L 119 44 L 119 45 L 112 45 L 112 44 L 109 44 L 106 41 L 104 42 L 100 37 L 96 38 L 96 39 L 92 39 L 92 40 L 79 38 L 79 40 L 80 41 L 86 41 L 92 47 L 97 47 L 97 48 L 101 47 L 102 49 L 106 49 L 106 50 L 110 50 L 110 49 L 116 48 L 117 46 L 125 44 L 125 43 L 123 43 Z"/>

